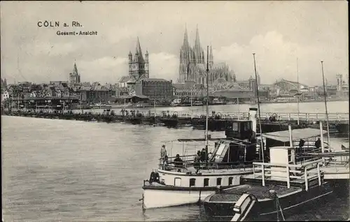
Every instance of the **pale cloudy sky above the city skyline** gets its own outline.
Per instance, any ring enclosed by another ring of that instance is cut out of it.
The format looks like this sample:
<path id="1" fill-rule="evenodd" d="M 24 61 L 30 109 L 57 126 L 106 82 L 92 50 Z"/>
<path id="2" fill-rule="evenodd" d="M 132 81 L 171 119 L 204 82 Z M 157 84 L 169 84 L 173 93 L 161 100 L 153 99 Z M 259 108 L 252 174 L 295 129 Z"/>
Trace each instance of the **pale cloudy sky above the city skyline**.
<path id="1" fill-rule="evenodd" d="M 137 36 L 150 54 L 150 77 L 176 81 L 185 27 L 190 44 L 198 25 L 214 63 L 226 62 L 237 80 L 254 73 L 321 84 L 349 75 L 347 1 L 1 1 L 1 77 L 8 82 L 68 80 L 74 60 L 82 81 L 118 82 L 128 75 L 127 54 Z M 38 21 L 61 27 L 38 27 Z M 83 27 L 62 27 L 77 21 Z M 57 36 L 57 31 L 97 36 Z M 205 50 L 204 48 L 204 50 Z M 18 63 L 19 55 L 19 63 Z M 20 71 L 18 71 L 18 64 Z M 347 78 L 347 77 L 346 77 Z"/>

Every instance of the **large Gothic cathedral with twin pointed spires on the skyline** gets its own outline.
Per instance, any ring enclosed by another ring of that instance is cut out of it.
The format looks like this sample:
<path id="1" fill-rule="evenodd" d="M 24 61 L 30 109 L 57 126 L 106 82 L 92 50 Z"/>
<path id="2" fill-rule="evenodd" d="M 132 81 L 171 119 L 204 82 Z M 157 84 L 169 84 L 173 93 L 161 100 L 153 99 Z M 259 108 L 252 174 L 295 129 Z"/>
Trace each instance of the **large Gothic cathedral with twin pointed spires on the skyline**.
<path id="1" fill-rule="evenodd" d="M 187 29 L 180 50 L 179 83 L 193 80 L 197 84 L 206 84 L 207 81 L 207 53 L 200 44 L 198 27 L 196 30 L 195 46 L 190 47 Z M 209 84 L 220 82 L 236 82 L 235 74 L 230 71 L 227 64 L 214 64 L 213 50 L 209 49 Z"/>

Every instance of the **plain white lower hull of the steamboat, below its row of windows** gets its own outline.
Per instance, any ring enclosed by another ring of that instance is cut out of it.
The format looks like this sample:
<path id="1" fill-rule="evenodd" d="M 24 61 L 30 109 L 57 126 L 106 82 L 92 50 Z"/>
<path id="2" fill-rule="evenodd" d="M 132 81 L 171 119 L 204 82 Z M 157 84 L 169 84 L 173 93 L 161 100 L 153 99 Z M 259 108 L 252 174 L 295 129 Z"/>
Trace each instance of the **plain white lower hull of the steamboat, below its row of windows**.
<path id="1" fill-rule="evenodd" d="M 215 191 L 144 189 L 144 209 L 195 204 L 212 193 Z"/>

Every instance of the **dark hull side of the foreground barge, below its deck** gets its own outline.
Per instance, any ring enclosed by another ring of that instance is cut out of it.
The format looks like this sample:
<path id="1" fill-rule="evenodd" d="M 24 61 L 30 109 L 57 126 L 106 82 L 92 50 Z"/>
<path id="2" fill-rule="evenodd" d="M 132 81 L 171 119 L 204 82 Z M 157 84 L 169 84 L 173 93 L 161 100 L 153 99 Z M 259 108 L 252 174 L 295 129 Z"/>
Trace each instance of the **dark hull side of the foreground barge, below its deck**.
<path id="1" fill-rule="evenodd" d="M 332 188 L 328 182 L 322 186 L 318 184 L 309 187 L 309 191 L 300 191 L 290 193 L 285 197 L 279 198 L 279 203 L 283 209 L 283 215 L 286 217 L 297 210 L 302 209 L 307 204 L 314 203 L 325 195 L 332 193 Z M 202 207 L 208 221 L 230 221 L 234 216 L 233 207 L 235 202 L 207 202 L 204 201 Z M 279 214 L 281 218 L 281 214 Z M 255 202 L 251 211 L 244 221 L 274 221 L 276 220 L 276 202 L 274 199 Z"/>

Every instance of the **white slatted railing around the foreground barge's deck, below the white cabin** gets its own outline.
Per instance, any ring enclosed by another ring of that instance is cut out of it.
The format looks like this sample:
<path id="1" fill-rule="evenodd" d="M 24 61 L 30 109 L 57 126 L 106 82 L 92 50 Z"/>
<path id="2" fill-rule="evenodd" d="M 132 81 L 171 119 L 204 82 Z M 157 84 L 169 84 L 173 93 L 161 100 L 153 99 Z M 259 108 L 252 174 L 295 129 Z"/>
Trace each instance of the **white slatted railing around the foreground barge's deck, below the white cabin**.
<path id="1" fill-rule="evenodd" d="M 320 165 L 323 160 L 320 158 L 315 161 L 308 161 L 302 164 L 282 164 L 282 163 L 253 163 L 253 177 L 262 179 L 262 186 L 265 186 L 266 180 L 286 181 L 287 188 L 290 188 L 290 182 L 293 180 L 303 181 L 305 190 L 309 190 L 309 182 L 318 179 L 318 186 L 321 186 L 321 177 L 323 171 Z M 311 170 L 316 170 L 312 173 Z M 257 172 L 260 170 L 260 172 Z"/>

